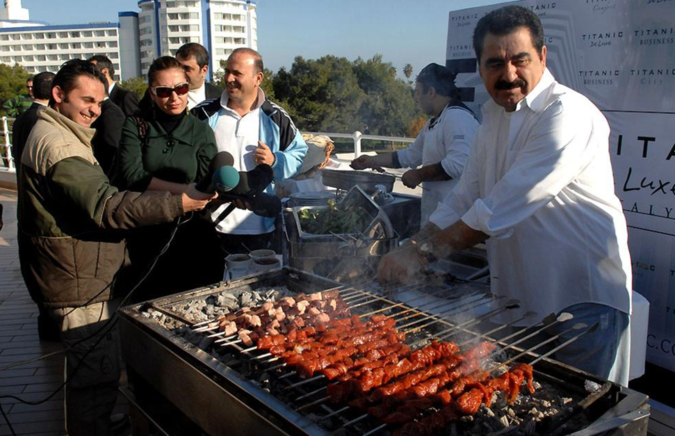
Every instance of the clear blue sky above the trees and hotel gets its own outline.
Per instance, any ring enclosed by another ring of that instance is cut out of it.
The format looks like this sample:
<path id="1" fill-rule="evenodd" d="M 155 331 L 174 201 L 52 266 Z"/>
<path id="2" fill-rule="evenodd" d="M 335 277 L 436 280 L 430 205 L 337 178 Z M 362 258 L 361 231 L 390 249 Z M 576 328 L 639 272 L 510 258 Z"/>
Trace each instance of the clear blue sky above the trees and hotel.
<path id="1" fill-rule="evenodd" d="M 448 12 L 505 0 L 258 0 L 258 50 L 266 67 L 291 67 L 295 56 L 354 60 L 382 54 L 415 74 L 445 63 Z M 137 0 L 22 0 L 31 19 L 50 24 L 117 22 Z"/>

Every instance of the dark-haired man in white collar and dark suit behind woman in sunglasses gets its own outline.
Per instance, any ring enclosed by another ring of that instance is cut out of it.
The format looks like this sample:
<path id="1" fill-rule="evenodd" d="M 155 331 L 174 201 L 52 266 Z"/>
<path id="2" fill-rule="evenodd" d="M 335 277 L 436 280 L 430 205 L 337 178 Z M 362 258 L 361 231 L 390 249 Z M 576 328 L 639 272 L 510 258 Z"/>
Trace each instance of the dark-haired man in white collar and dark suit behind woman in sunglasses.
<path id="1" fill-rule="evenodd" d="M 188 109 L 192 109 L 204 100 L 220 97 L 222 89 L 206 83 L 209 73 L 209 51 L 197 42 L 181 45 L 176 51 L 176 58 L 183 65 L 188 76 L 190 92 L 188 92 Z"/>

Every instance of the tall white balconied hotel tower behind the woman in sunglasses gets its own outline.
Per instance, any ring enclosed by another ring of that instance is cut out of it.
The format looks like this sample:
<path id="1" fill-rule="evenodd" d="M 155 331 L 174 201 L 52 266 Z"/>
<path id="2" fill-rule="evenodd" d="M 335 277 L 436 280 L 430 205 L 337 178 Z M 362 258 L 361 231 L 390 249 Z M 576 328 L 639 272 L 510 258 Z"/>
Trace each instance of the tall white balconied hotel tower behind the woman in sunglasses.
<path id="1" fill-rule="evenodd" d="M 186 42 L 209 51 L 209 73 L 238 47 L 258 47 L 256 1 L 140 0 L 138 36 L 143 74 L 157 56 L 174 55 Z M 209 78 L 210 79 L 210 78 Z"/>

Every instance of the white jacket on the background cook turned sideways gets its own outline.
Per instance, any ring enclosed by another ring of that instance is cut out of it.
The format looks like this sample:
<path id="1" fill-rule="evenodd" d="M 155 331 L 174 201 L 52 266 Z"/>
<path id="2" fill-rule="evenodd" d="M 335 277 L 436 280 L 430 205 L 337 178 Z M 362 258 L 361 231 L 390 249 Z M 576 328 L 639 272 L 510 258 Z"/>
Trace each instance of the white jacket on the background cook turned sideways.
<path id="1" fill-rule="evenodd" d="M 478 130 L 478 120 L 471 111 L 461 106 L 446 106 L 437 118 L 429 120 L 405 150 L 400 150 L 398 162 L 402 168 L 417 168 L 419 165 L 441 163 L 450 180 L 425 181 L 422 187 L 421 225 L 429 222 L 429 216 L 438 203 L 453 190 L 462 175 L 469 147 Z"/>

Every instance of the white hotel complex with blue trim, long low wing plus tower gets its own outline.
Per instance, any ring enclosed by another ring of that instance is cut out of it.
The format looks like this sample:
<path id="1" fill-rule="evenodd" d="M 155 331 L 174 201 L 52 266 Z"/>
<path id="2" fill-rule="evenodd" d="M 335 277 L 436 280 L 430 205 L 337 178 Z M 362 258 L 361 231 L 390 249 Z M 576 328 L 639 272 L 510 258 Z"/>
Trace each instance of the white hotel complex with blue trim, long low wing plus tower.
<path id="1" fill-rule="evenodd" d="M 21 0 L 5 0 L 0 63 L 18 63 L 37 74 L 56 72 L 72 58 L 103 54 L 113 61 L 116 79 L 124 80 L 145 75 L 154 58 L 174 55 L 186 42 L 206 47 L 210 73 L 237 47 L 257 49 L 253 0 L 140 0 L 138 6 L 140 13 L 120 12 L 118 23 L 50 26 L 31 21 Z"/>

